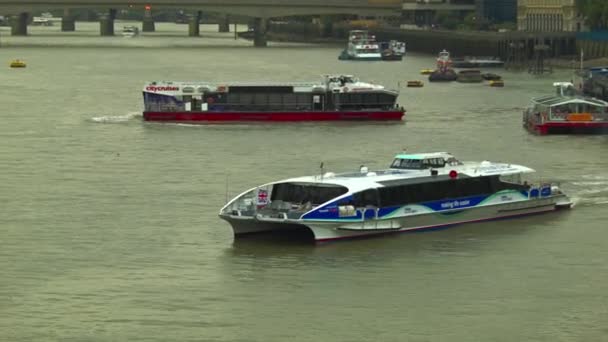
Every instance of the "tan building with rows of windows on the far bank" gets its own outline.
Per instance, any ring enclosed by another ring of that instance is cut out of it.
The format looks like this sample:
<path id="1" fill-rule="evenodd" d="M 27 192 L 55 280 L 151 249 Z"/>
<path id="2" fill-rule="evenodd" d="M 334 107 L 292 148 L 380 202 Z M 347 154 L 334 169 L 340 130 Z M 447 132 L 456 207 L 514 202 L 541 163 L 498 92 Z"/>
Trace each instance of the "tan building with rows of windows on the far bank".
<path id="1" fill-rule="evenodd" d="M 576 0 L 519 0 L 517 27 L 520 31 L 581 31 L 583 19 Z"/>

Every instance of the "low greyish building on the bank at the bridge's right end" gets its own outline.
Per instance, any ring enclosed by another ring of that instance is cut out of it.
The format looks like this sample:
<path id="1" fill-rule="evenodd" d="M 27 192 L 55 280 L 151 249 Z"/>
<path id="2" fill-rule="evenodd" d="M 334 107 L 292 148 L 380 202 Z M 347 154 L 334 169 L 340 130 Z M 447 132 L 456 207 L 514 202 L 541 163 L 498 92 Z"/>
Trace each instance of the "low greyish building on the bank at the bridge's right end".
<path id="1" fill-rule="evenodd" d="M 474 12 L 476 0 L 403 0 L 402 17 L 406 25 L 431 26 L 437 12 L 456 12 L 461 17 Z"/>

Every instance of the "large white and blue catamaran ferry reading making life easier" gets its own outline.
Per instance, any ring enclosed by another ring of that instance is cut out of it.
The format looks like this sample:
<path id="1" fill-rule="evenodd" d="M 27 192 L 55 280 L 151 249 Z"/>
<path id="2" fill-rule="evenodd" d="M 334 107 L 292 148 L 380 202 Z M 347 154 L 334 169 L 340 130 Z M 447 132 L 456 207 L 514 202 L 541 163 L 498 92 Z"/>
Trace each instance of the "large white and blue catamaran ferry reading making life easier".
<path id="1" fill-rule="evenodd" d="M 446 152 L 398 154 L 390 168 L 263 184 L 219 212 L 235 236 L 308 229 L 315 241 L 409 232 L 551 212 L 572 205 L 555 184 L 522 181 L 515 164 L 461 162 Z"/>

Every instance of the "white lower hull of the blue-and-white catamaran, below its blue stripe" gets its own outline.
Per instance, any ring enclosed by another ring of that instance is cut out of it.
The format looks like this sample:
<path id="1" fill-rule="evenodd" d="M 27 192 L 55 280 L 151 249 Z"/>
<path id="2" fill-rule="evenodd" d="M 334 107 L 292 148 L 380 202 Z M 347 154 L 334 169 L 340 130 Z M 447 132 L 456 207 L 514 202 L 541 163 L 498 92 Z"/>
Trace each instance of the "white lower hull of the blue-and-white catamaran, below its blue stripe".
<path id="1" fill-rule="evenodd" d="M 565 195 L 556 195 L 498 205 L 469 207 L 459 210 L 401 216 L 392 219 L 357 222 L 343 222 L 340 220 L 267 220 L 234 216 L 222 216 L 222 218 L 231 224 L 235 236 L 264 231 L 308 228 L 312 231 L 316 242 L 323 242 L 378 234 L 434 230 L 465 223 L 516 218 L 569 208 L 571 204 Z"/>

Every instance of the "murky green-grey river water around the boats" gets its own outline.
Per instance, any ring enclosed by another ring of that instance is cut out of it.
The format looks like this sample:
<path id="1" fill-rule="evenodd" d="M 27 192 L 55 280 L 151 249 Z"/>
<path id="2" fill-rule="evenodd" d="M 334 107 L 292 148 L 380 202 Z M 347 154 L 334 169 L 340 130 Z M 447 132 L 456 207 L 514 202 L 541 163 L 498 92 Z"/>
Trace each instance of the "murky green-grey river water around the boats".
<path id="1" fill-rule="evenodd" d="M 401 87 L 402 123 L 145 123 L 149 80 L 397 87 L 434 57 L 337 60 L 339 46 L 251 47 L 186 26 L 134 39 L 1 28 L 0 340 L 608 340 L 607 136 L 534 136 L 532 96 L 569 71 Z M 9 69 L 24 59 L 26 69 Z M 262 182 L 447 150 L 561 183 L 566 212 L 321 246 L 234 241 L 217 217 Z"/>

